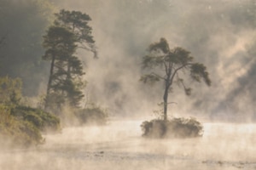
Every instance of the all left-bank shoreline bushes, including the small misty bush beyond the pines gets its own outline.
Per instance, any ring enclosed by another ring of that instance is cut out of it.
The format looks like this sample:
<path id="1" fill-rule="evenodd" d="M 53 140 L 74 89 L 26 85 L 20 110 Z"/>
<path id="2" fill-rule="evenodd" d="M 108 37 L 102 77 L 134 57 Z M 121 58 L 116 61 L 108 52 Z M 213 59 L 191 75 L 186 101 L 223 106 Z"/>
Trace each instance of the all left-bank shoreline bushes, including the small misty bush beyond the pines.
<path id="1" fill-rule="evenodd" d="M 21 89 L 19 78 L 0 77 L 0 144 L 4 148 L 44 144 L 44 133 L 61 133 L 61 125 L 65 124 L 61 116 L 25 106 Z M 108 121 L 108 111 L 100 106 L 90 105 L 72 112 L 68 118 L 79 125 L 105 125 Z M 67 115 L 67 111 L 63 114 Z"/>

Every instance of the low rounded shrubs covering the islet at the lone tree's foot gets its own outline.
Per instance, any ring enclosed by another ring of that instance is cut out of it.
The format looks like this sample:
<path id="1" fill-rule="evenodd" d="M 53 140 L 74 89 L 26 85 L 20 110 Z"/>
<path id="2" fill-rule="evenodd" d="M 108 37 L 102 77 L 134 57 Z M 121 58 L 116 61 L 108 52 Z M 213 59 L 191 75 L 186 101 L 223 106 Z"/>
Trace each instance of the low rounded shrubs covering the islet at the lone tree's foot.
<path id="1" fill-rule="evenodd" d="M 203 127 L 195 118 L 154 119 L 141 125 L 148 138 L 195 138 L 202 135 Z"/>

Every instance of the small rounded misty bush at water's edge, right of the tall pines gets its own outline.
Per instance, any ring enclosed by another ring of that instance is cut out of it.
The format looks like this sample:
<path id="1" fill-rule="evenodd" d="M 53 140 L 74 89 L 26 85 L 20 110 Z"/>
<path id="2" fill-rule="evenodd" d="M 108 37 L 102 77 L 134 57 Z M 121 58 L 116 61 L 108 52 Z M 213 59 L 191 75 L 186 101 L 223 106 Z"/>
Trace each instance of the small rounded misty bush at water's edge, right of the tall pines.
<path id="1" fill-rule="evenodd" d="M 108 122 L 108 113 L 101 107 L 92 105 L 75 113 L 80 125 L 105 125 Z"/>

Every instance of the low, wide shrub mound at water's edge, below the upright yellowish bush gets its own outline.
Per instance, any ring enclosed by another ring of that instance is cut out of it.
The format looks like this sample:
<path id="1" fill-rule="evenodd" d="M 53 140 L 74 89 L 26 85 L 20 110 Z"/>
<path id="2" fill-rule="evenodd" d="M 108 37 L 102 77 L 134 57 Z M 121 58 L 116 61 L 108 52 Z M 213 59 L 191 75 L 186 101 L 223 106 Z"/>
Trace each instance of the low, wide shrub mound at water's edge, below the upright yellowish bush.
<path id="1" fill-rule="evenodd" d="M 11 108 L 0 105 L 0 144 L 5 146 L 31 146 L 43 144 L 43 131 L 60 130 L 60 121 L 49 113 L 29 107 Z"/>

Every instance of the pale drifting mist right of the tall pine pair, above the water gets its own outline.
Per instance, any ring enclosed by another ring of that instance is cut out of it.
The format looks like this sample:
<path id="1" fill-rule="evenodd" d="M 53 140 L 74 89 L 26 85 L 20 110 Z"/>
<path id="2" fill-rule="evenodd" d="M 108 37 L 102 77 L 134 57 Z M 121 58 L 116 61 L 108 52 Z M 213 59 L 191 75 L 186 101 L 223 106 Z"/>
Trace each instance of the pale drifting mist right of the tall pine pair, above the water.
<path id="1" fill-rule="evenodd" d="M 88 96 L 121 115 L 151 115 L 163 91 L 144 87 L 140 62 L 148 45 L 165 37 L 207 66 L 212 87 L 193 84 L 189 97 L 174 88 L 170 113 L 221 119 L 253 118 L 255 69 L 254 0 L 55 0 L 80 10 L 90 26 L 99 59 L 83 53 Z M 86 55 L 86 56 L 85 56 Z M 92 55 L 91 55 L 92 56 Z M 244 116 L 246 115 L 246 116 Z"/>

